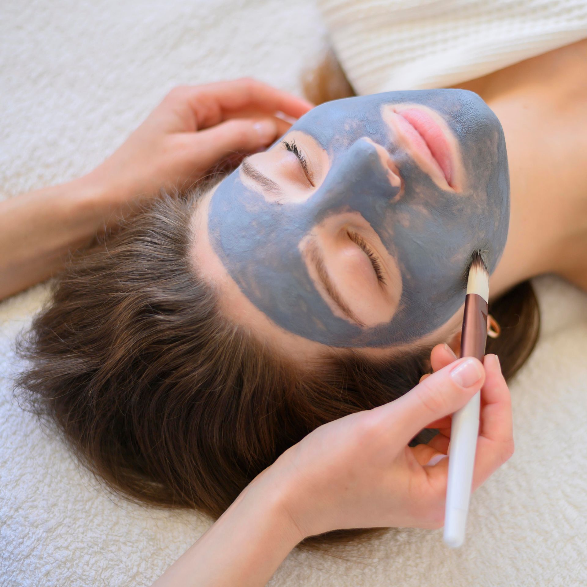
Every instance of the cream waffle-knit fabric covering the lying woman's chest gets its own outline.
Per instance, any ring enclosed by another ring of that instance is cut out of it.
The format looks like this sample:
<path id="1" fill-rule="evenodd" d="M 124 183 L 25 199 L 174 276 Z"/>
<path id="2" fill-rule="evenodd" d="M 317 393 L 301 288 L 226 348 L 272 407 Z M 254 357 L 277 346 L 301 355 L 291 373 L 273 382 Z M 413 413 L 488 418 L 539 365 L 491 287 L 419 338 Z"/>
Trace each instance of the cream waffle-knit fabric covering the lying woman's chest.
<path id="1" fill-rule="evenodd" d="M 452 86 L 587 37 L 585 0 L 318 0 L 318 5 L 359 94 Z"/>

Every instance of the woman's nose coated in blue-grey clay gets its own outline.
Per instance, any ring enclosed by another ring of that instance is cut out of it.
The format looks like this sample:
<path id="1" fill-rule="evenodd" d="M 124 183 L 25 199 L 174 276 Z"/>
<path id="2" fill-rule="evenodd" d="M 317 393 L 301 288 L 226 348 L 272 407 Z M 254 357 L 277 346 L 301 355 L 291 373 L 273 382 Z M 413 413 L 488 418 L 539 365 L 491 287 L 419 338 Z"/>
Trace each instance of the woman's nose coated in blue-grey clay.
<path id="1" fill-rule="evenodd" d="M 387 151 L 365 137 L 332 159 L 321 187 L 312 197 L 317 215 L 336 208 L 360 211 L 366 205 L 385 208 L 402 188 L 397 168 Z"/>

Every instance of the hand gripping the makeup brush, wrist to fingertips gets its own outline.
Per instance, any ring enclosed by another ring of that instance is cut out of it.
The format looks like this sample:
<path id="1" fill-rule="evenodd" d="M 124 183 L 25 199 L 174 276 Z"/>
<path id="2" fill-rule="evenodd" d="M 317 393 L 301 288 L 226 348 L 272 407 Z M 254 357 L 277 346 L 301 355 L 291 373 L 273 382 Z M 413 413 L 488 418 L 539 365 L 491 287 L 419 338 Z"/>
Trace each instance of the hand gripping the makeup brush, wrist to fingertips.
<path id="1" fill-rule="evenodd" d="M 454 359 L 446 345 L 436 346 L 435 372 L 409 393 L 318 427 L 259 475 L 261 482 L 266 475 L 270 484 L 285 485 L 284 507 L 299 539 L 338 528 L 440 528 L 450 414 L 481 384 L 473 490 L 510 458 L 510 393 L 497 357 L 485 356 L 483 365 Z M 439 428 L 440 434 L 409 447 L 425 427 Z"/>

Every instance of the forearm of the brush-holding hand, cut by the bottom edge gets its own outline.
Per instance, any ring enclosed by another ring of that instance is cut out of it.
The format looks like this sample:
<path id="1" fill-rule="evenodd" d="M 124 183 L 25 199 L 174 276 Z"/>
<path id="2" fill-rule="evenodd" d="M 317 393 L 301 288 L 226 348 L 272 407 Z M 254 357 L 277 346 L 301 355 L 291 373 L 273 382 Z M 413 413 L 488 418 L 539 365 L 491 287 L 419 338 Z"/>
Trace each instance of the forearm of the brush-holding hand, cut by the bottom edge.
<path id="1" fill-rule="evenodd" d="M 153 587 L 261 587 L 300 541 L 278 483 L 253 482 Z"/>

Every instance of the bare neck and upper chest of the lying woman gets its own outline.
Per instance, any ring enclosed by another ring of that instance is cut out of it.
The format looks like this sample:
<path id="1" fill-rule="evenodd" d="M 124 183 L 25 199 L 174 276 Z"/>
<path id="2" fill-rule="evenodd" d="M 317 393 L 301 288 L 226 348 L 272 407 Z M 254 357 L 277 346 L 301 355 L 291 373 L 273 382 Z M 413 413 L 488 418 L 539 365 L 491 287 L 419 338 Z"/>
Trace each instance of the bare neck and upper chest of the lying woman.
<path id="1" fill-rule="evenodd" d="M 587 289 L 586 60 L 582 41 L 459 86 L 497 114 L 508 150 L 510 230 L 492 297 L 544 273 Z"/>

